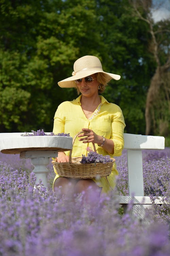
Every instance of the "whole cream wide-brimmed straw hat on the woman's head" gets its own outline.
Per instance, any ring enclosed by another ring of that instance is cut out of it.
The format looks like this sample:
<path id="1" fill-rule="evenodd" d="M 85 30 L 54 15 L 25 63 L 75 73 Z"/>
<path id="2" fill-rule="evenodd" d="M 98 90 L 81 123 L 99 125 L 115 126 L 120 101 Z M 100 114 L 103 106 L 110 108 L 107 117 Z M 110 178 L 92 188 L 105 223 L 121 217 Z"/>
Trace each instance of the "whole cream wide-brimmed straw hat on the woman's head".
<path id="1" fill-rule="evenodd" d="M 74 80 L 84 78 L 86 76 L 99 72 L 104 74 L 106 83 L 108 83 L 111 79 L 120 79 L 120 75 L 104 72 L 102 69 L 102 64 L 99 58 L 96 56 L 86 55 L 81 57 L 80 59 L 77 59 L 74 62 L 73 69 L 74 71 L 72 72 L 72 76 L 58 82 L 58 85 L 60 87 L 77 87 Z"/>

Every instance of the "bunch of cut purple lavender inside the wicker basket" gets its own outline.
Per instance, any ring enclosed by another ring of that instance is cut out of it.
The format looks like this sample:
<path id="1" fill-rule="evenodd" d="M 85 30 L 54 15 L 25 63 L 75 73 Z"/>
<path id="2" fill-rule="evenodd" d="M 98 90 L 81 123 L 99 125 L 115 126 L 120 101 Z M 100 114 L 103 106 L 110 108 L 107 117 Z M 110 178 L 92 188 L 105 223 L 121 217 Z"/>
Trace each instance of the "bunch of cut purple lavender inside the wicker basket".
<path id="1" fill-rule="evenodd" d="M 97 152 L 89 152 L 87 156 L 82 155 L 81 163 L 109 163 L 113 162 L 113 159 L 109 156 L 103 156 Z"/>

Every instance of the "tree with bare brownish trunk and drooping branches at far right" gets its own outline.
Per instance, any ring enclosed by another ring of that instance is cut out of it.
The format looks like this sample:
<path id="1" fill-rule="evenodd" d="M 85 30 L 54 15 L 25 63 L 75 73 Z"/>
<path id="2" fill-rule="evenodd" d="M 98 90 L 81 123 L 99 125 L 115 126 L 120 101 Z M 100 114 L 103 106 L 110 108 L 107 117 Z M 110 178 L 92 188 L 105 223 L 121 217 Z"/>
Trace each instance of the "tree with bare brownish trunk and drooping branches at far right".
<path id="1" fill-rule="evenodd" d="M 151 5 L 146 0 L 131 0 L 134 16 L 147 24 L 150 35 L 148 51 L 155 61 L 154 74 L 151 77 L 146 97 L 145 120 L 146 134 L 170 135 L 170 20 L 154 22 L 150 8 L 156 9 L 164 3 Z M 142 10 L 142 12 L 141 12 Z"/>

